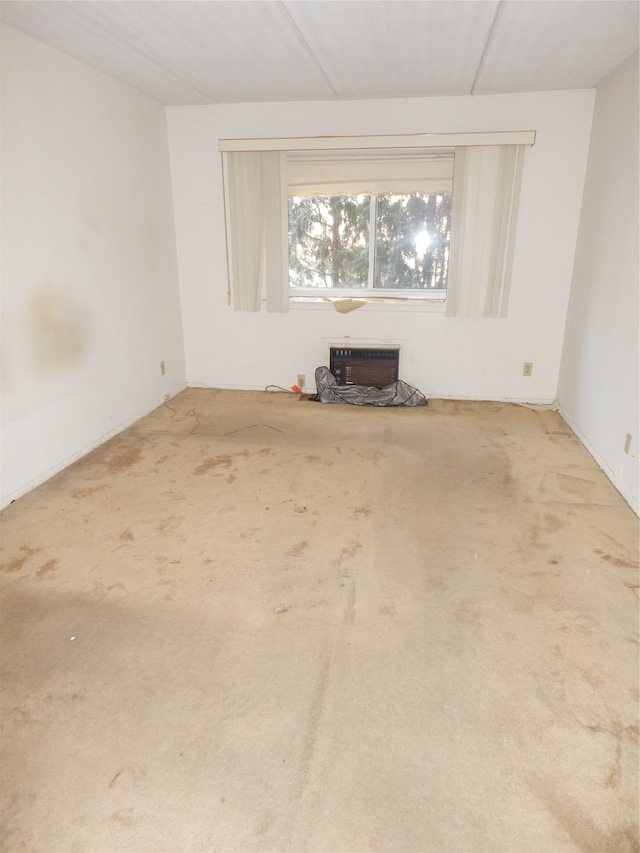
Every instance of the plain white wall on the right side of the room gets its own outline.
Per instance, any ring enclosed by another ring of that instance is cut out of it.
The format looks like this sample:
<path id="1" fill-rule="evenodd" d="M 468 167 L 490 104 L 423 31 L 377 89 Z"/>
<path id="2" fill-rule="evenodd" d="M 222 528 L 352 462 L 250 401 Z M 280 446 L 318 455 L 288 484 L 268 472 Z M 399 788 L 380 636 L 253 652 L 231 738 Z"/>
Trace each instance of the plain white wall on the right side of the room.
<path id="1" fill-rule="evenodd" d="M 597 89 L 559 382 L 562 414 L 636 512 L 638 181 L 636 53 Z"/>

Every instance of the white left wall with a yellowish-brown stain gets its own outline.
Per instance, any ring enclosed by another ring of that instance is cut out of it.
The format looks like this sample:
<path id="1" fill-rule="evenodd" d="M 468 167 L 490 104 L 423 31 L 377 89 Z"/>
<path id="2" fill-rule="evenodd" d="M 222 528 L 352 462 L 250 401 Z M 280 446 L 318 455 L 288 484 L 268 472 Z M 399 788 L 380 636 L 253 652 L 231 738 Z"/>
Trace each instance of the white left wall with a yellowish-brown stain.
<path id="1" fill-rule="evenodd" d="M 2 308 L 2 504 L 185 383 L 165 108 L 4 26 Z"/>

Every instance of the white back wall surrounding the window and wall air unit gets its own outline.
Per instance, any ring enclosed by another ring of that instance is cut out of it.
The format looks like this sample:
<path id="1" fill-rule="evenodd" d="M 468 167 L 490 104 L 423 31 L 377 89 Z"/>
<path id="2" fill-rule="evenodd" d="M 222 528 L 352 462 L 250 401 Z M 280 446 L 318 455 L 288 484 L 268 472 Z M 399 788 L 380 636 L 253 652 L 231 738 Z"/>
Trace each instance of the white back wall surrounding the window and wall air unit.
<path id="1" fill-rule="evenodd" d="M 428 396 L 550 402 L 562 338 L 593 91 L 168 110 L 187 378 L 226 388 L 313 387 L 326 344 L 351 336 L 403 344 L 402 378 Z M 227 305 L 220 137 L 536 130 L 525 160 L 509 317 L 367 305 L 288 314 Z M 522 376 L 523 362 L 533 376 Z"/>

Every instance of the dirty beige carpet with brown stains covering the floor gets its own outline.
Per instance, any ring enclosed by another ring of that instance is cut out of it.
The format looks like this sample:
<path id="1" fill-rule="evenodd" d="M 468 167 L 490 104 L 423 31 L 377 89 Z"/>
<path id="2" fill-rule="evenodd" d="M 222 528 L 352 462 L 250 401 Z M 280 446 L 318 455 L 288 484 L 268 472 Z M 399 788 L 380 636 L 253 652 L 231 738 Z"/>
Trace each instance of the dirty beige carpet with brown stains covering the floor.
<path id="1" fill-rule="evenodd" d="M 193 389 L 2 529 L 2 850 L 638 849 L 638 519 L 557 414 Z"/>

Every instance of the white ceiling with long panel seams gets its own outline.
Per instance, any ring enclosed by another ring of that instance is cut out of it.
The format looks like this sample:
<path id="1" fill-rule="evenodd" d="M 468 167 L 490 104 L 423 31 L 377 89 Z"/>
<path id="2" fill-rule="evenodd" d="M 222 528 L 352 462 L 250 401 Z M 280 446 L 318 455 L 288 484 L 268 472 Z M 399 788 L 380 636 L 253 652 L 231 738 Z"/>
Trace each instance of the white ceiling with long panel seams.
<path id="1" fill-rule="evenodd" d="M 596 86 L 636 0 L 4 0 L 2 20 L 163 104 Z"/>

